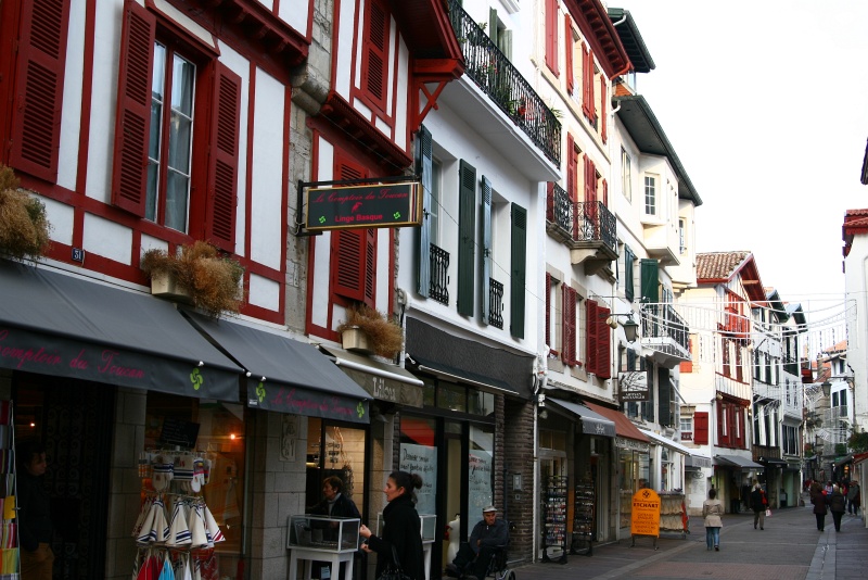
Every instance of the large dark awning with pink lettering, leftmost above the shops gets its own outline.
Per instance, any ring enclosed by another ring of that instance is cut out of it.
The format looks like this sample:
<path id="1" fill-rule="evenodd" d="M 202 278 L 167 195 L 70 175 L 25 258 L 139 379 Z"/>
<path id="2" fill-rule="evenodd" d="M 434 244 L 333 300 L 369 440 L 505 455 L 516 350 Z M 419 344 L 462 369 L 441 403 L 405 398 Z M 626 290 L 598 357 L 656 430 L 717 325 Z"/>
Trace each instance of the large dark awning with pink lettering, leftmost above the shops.
<path id="1" fill-rule="evenodd" d="M 232 402 L 242 373 L 169 302 L 5 260 L 0 367 Z"/>

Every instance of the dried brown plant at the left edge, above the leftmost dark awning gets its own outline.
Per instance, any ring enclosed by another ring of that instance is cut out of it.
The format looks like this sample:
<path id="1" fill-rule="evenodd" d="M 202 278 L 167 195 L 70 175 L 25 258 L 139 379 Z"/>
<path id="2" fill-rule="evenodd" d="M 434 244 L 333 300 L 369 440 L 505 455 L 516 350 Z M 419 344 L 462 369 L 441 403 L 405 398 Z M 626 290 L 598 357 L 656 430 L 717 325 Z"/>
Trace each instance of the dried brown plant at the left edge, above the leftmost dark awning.
<path id="1" fill-rule="evenodd" d="M 46 205 L 18 188 L 10 167 L 0 165 L 0 254 L 38 260 L 51 242 Z"/>

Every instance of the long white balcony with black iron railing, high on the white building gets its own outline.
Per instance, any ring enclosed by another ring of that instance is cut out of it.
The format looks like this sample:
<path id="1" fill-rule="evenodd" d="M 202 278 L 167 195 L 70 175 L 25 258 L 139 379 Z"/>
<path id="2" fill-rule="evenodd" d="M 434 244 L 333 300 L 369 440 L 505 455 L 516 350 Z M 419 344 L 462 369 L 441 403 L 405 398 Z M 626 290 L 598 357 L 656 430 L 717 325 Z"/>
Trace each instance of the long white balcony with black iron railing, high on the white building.
<path id="1" fill-rule="evenodd" d="M 464 76 L 477 90 L 469 90 L 461 81 L 449 83 L 441 100 L 527 175 L 552 179 L 561 162 L 561 123 L 459 2 L 448 0 L 448 5 L 464 58 Z M 478 96 L 489 102 L 478 102 Z M 495 111 L 497 119 L 492 118 Z M 523 137 L 518 141 L 526 143 L 516 142 L 519 135 Z"/>

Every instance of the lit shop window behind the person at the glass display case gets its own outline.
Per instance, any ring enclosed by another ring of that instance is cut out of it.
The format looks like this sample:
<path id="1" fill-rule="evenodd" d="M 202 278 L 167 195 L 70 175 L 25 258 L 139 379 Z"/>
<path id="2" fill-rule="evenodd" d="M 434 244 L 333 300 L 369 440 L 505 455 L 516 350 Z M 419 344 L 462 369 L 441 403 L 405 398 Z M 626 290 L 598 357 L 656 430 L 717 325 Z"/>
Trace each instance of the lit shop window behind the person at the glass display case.
<path id="1" fill-rule="evenodd" d="M 301 420 L 291 417 L 289 420 Z M 353 500 L 365 518 L 365 429 L 336 425 L 317 417 L 307 419 L 305 505 L 322 500 L 322 480 L 339 477 L 342 494 Z"/>

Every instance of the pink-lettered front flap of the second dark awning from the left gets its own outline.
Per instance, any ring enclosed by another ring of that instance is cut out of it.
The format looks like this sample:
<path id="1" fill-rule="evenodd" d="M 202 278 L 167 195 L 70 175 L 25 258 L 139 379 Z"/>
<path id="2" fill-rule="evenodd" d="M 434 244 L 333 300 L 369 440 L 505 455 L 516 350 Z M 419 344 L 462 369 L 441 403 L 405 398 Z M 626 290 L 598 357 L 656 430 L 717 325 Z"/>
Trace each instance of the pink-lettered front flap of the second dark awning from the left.
<path id="1" fill-rule="evenodd" d="M 253 378 L 247 379 L 247 406 L 306 417 L 370 423 L 368 401 Z"/>

